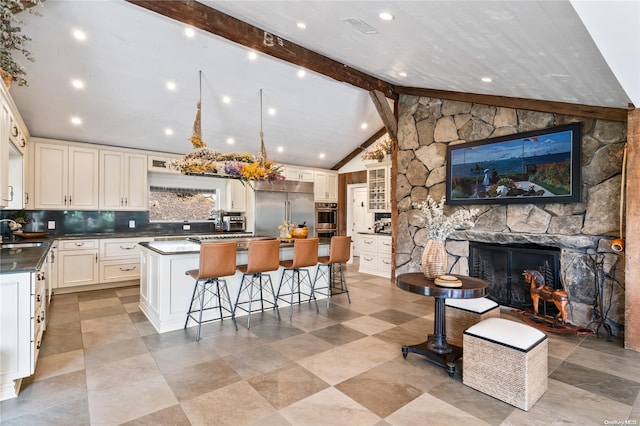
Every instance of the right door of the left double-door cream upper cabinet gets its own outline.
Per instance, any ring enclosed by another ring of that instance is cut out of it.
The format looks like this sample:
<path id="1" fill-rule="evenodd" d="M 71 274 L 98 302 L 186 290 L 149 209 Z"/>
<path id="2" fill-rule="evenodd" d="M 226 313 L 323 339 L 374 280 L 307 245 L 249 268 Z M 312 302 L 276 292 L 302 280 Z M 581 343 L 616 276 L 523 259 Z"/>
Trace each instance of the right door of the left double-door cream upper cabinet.
<path id="1" fill-rule="evenodd" d="M 97 149 L 69 147 L 69 207 L 97 210 L 98 203 Z"/>

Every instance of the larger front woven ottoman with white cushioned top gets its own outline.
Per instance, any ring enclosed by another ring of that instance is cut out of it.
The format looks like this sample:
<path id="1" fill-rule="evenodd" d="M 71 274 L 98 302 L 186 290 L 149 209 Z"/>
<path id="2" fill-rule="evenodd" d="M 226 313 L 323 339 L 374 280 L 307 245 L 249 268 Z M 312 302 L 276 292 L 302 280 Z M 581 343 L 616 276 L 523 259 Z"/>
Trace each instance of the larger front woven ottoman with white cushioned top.
<path id="1" fill-rule="evenodd" d="M 489 318 L 464 332 L 462 383 L 529 411 L 547 390 L 547 336 Z"/>

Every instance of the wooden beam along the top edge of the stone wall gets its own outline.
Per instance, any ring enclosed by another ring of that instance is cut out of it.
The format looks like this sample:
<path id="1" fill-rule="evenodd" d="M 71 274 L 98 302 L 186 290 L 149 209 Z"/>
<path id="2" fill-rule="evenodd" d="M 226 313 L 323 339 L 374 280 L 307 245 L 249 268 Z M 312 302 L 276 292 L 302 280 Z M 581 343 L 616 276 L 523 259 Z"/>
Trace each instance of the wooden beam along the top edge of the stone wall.
<path id="1" fill-rule="evenodd" d="M 568 102 L 542 101 L 536 99 L 511 98 L 508 96 L 481 95 L 477 93 L 451 92 L 448 90 L 422 89 L 418 87 L 395 87 L 398 94 L 450 99 L 461 102 L 474 102 L 506 108 L 528 109 L 554 114 L 577 115 L 612 121 L 627 121 L 628 110 L 592 105 L 571 104 Z"/>

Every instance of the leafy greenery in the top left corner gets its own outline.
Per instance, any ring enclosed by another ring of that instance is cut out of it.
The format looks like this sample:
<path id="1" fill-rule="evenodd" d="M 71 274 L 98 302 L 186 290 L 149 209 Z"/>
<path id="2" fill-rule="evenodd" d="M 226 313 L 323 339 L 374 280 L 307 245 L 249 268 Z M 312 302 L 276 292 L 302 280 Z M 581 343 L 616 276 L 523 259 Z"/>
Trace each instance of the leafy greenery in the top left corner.
<path id="1" fill-rule="evenodd" d="M 26 48 L 31 38 L 22 34 L 24 22 L 18 19 L 17 13 L 25 10 L 24 3 L 39 5 L 41 0 L 2 0 L 0 3 L 0 34 L 2 50 L 0 50 L 0 69 L 13 77 L 18 86 L 28 86 L 25 76 L 27 72 L 13 57 L 13 53 L 19 52 L 24 59 L 33 62 L 34 59 Z M 28 9 L 29 13 L 35 13 Z"/>

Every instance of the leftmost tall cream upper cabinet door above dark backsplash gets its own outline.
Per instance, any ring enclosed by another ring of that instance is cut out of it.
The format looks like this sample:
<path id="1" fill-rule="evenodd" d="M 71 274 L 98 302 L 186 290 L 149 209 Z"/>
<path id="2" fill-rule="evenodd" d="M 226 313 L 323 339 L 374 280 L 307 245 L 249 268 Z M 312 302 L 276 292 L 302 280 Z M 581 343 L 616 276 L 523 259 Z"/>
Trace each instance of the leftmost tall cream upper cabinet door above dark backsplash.
<path id="1" fill-rule="evenodd" d="M 35 144 L 35 207 L 64 209 L 67 204 L 69 149 L 63 145 Z"/>

